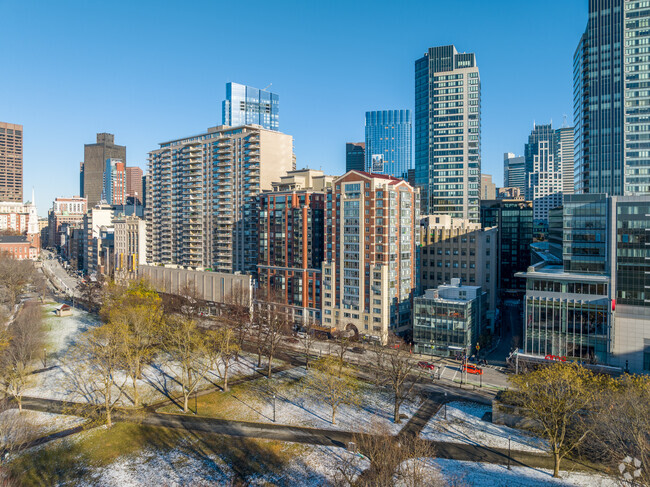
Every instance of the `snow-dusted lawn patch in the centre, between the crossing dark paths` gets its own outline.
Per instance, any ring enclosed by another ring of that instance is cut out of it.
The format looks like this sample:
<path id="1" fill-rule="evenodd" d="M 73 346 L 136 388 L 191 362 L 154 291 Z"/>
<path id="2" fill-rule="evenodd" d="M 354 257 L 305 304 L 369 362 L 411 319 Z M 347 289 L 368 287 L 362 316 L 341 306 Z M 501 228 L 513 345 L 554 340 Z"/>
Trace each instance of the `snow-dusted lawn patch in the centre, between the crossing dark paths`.
<path id="1" fill-rule="evenodd" d="M 372 431 L 382 425 L 397 434 L 408 419 L 393 423 L 393 398 L 386 389 L 364 384 L 358 405 L 341 405 L 332 424 L 332 409 L 315 397 L 304 378 L 304 368 L 294 368 L 274 374 L 271 381 L 260 378 L 233 391 L 219 403 L 220 417 L 239 421 L 273 422 L 273 394 L 275 393 L 276 423 L 348 431 Z M 410 418 L 418 409 L 420 399 L 404 402 L 401 413 Z M 223 406 L 223 407 L 221 407 Z M 168 409 L 169 411 L 169 409 Z"/>

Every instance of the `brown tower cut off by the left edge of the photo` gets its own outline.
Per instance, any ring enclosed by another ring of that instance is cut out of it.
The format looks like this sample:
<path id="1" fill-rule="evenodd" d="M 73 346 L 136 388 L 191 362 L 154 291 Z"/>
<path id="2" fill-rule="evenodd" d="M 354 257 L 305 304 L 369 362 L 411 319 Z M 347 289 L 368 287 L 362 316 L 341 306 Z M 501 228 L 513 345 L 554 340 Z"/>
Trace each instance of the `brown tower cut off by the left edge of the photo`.
<path id="1" fill-rule="evenodd" d="M 23 126 L 0 122 L 0 201 L 23 202 Z"/>

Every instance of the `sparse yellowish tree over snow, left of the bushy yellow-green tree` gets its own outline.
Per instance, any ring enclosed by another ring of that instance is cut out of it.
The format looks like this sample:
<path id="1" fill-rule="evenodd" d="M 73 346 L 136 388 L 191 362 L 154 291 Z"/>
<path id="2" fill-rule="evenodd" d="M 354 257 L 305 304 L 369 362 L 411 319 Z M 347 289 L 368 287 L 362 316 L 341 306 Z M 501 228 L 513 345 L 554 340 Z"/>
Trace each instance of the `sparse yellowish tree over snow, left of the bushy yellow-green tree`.
<path id="1" fill-rule="evenodd" d="M 128 375 L 121 373 L 127 336 L 123 323 L 106 323 L 84 332 L 66 357 L 73 390 L 99 406 L 109 428 L 113 425 L 113 410 L 129 380 Z"/>

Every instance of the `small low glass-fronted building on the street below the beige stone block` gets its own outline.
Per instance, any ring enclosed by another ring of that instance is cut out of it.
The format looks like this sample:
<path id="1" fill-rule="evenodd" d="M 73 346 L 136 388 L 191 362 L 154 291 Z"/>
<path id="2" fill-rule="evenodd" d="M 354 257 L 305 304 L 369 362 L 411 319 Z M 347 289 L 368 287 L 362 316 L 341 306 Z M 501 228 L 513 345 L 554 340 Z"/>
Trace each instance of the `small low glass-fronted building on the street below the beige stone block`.
<path id="1" fill-rule="evenodd" d="M 485 318 L 480 286 L 451 285 L 427 289 L 413 305 L 415 352 L 442 357 L 472 355 Z"/>

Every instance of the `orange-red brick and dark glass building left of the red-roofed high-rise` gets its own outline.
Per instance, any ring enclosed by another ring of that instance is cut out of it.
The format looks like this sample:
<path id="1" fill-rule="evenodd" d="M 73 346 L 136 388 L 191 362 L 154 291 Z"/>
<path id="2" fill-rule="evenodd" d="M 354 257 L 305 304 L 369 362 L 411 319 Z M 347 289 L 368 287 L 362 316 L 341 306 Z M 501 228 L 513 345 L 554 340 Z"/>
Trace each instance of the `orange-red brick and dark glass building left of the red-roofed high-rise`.
<path id="1" fill-rule="evenodd" d="M 290 171 L 260 194 L 260 286 L 300 324 L 321 321 L 325 192 L 333 180 L 322 171 Z"/>

